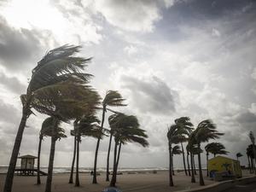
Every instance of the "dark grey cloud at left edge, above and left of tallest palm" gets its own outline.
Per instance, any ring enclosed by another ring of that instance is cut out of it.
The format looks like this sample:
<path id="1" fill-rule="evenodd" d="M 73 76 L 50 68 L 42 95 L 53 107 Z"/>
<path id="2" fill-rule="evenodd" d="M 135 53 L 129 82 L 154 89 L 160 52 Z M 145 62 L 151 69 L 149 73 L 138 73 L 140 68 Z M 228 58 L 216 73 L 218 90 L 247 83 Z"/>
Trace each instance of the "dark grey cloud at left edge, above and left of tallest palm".
<path id="1" fill-rule="evenodd" d="M 3 67 L 9 70 L 21 70 L 29 64 L 29 61 L 38 61 L 44 53 L 43 44 L 47 44 L 46 37 L 50 33 L 24 28 L 15 29 L 8 25 L 0 16 L 0 61 Z M 48 33 L 46 35 L 45 33 Z"/>

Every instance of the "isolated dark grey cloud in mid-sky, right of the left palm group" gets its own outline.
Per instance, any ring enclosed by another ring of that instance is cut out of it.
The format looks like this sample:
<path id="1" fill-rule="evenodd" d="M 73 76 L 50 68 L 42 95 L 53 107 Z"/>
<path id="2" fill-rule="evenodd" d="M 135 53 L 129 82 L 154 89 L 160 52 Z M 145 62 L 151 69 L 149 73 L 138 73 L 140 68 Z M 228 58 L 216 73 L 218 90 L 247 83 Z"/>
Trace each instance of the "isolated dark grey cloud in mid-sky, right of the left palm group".
<path id="1" fill-rule="evenodd" d="M 133 102 L 143 113 L 172 113 L 175 111 L 173 91 L 157 77 L 142 80 L 122 77 L 123 88 L 131 91 Z"/>

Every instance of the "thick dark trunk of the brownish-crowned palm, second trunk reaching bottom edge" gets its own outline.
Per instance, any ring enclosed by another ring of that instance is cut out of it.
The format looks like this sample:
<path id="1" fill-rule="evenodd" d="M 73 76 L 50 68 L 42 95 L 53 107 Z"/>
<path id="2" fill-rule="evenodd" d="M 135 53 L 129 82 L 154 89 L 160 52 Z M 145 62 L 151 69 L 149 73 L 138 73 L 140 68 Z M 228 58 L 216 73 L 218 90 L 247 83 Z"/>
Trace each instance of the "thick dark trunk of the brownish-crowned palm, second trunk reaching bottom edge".
<path id="1" fill-rule="evenodd" d="M 55 143 L 56 143 L 56 138 L 52 136 L 51 144 L 50 144 L 49 166 L 48 166 L 48 175 L 46 180 L 45 192 L 51 192 L 52 172 L 53 172 L 53 165 L 55 160 Z"/>

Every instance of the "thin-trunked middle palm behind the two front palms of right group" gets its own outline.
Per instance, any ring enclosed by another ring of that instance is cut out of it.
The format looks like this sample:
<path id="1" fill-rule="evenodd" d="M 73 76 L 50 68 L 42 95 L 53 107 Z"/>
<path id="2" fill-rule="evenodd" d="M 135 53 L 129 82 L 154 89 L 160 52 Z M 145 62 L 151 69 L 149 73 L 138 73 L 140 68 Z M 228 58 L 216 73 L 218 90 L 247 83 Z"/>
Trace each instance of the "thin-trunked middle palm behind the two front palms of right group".
<path id="1" fill-rule="evenodd" d="M 189 117 L 181 117 L 178 119 L 174 120 L 175 124 L 178 125 L 181 129 L 186 131 L 186 135 L 189 136 L 189 133 L 193 130 L 193 124 L 190 122 Z M 186 175 L 188 175 L 187 168 L 186 168 L 186 163 L 185 163 L 185 154 L 184 154 L 184 149 L 183 149 L 183 142 L 187 142 L 188 137 L 183 137 L 181 138 L 180 144 L 182 148 L 182 154 L 183 154 L 183 167 L 184 167 L 184 172 Z"/>

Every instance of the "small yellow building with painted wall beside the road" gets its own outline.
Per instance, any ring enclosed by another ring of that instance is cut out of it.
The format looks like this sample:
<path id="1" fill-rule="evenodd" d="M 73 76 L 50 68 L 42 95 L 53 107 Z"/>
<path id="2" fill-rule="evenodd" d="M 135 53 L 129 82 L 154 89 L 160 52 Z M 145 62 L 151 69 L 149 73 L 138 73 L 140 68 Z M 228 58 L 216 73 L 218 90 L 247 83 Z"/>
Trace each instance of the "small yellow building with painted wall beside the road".
<path id="1" fill-rule="evenodd" d="M 241 177 L 241 166 L 239 160 L 233 160 L 223 156 L 217 156 L 208 160 L 210 177 L 221 173 L 223 177 Z"/>

